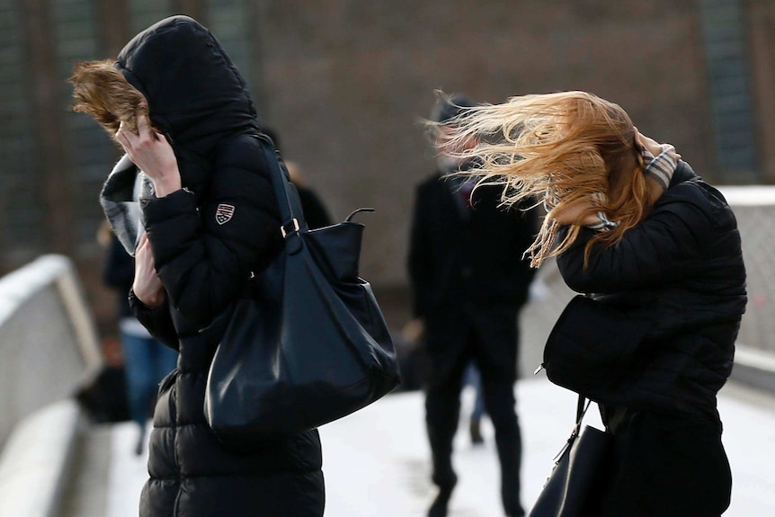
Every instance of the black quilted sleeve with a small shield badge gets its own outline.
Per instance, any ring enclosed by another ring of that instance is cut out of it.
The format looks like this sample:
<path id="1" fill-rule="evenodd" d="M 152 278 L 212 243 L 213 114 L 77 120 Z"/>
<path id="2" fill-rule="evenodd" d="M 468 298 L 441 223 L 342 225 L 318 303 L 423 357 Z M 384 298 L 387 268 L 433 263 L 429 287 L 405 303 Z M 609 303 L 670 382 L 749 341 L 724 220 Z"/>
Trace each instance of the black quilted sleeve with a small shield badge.
<path id="1" fill-rule="evenodd" d="M 200 206 L 192 192 L 143 200 L 156 271 L 173 307 L 201 328 L 236 299 L 281 245 L 280 216 L 263 144 L 218 147 Z"/>

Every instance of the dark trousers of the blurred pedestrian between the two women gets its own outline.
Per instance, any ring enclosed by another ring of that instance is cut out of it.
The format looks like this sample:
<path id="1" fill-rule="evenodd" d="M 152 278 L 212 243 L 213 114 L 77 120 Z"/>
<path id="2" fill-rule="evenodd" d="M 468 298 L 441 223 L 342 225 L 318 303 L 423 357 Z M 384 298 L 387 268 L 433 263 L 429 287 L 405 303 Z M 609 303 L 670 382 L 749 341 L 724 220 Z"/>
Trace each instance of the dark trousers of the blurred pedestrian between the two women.
<path id="1" fill-rule="evenodd" d="M 511 368 L 489 364 L 477 355 L 477 336 L 472 347 L 442 378 L 432 379 L 425 391 L 425 423 L 432 453 L 432 479 L 441 488 L 454 483 L 452 441 L 458 429 L 460 390 L 466 366 L 472 359 L 481 373 L 485 408 L 495 428 L 495 445 L 501 465 L 501 496 L 508 515 L 522 515 L 520 503 L 521 432 L 514 398 Z M 516 347 L 516 343 L 514 343 Z M 432 376 L 433 377 L 433 376 Z"/>

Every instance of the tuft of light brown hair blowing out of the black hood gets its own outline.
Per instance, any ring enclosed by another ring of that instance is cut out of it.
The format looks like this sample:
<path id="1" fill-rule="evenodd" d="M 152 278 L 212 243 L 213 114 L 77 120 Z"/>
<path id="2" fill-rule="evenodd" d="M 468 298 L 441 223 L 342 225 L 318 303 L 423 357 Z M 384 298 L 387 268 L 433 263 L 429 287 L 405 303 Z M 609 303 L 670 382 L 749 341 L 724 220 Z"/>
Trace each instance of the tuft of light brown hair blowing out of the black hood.
<path id="1" fill-rule="evenodd" d="M 73 111 L 91 115 L 117 144 L 121 122 L 137 133 L 138 117 L 148 116 L 145 96 L 113 67 L 111 59 L 76 63 L 68 81 L 76 100 Z"/>

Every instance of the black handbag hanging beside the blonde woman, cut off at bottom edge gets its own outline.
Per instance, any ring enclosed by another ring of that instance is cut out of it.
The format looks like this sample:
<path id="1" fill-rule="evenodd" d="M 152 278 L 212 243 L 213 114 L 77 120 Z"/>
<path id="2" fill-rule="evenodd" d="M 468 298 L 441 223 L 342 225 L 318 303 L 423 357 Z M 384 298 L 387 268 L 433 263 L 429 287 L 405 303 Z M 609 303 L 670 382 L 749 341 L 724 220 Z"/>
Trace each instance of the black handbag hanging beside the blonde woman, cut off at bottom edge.
<path id="1" fill-rule="evenodd" d="M 599 501 L 601 489 L 610 472 L 610 433 L 589 425 L 579 434 L 584 397 L 579 396 L 576 423 L 570 438 L 555 458 L 555 466 L 528 517 L 592 516 L 592 506 Z"/>

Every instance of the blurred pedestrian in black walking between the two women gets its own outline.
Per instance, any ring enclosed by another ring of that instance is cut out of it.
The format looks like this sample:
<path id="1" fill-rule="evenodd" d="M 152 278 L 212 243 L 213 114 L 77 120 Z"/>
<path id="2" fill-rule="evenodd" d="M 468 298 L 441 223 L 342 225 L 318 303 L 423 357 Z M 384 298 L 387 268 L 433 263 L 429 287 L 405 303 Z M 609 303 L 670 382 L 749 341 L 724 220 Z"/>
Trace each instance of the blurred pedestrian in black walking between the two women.
<path id="1" fill-rule="evenodd" d="M 481 187 L 456 175 L 476 166 L 447 144 L 450 120 L 473 106 L 464 95 L 441 99 L 432 112 L 437 170 L 419 184 L 409 244 L 413 311 L 428 357 L 425 411 L 432 480 L 439 486 L 429 517 L 447 515 L 457 484 L 452 441 L 458 428 L 460 390 L 468 364 L 481 374 L 486 412 L 495 429 L 501 496 L 507 515 L 524 514 L 520 500 L 521 435 L 515 410 L 518 315 L 533 270 L 521 260 L 535 235 L 529 205 L 499 208 L 503 189 Z M 476 144 L 474 139 L 459 147 Z"/>

